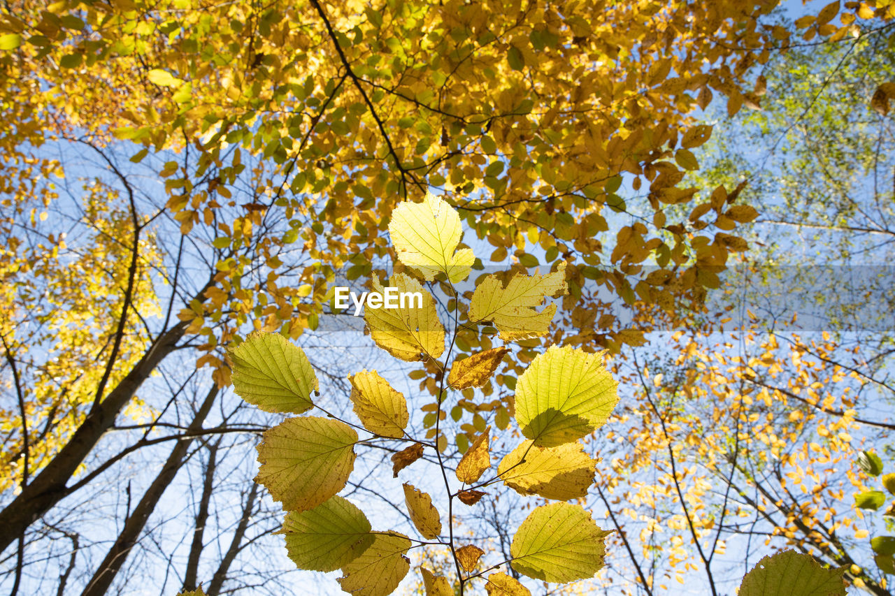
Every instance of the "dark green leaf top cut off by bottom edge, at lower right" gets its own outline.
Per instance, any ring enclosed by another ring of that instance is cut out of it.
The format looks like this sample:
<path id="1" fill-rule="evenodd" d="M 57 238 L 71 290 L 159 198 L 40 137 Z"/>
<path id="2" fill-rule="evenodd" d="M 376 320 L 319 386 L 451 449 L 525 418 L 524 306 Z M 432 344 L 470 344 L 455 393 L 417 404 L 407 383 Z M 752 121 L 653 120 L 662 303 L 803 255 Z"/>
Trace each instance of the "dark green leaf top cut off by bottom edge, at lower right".
<path id="1" fill-rule="evenodd" d="M 824 569 L 811 555 L 784 550 L 758 561 L 738 596 L 846 596 L 845 567 Z"/>

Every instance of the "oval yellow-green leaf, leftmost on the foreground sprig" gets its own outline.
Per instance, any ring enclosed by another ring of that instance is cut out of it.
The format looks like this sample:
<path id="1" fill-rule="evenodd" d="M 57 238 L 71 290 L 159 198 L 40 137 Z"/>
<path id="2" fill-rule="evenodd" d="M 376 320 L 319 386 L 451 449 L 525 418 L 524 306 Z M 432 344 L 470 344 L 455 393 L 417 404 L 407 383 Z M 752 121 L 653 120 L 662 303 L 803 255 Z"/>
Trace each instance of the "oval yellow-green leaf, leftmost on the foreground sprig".
<path id="1" fill-rule="evenodd" d="M 302 348 L 274 333 L 252 333 L 229 351 L 237 395 L 265 412 L 303 413 L 320 382 Z"/>

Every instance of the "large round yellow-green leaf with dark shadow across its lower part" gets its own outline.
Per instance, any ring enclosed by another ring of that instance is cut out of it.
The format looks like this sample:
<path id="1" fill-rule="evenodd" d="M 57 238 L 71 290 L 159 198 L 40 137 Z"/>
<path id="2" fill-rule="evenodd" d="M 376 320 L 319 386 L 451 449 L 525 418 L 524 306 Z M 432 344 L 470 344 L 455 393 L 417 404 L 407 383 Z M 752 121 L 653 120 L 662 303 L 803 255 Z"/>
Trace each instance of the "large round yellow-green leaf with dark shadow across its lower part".
<path id="1" fill-rule="evenodd" d="M 551 346 L 516 383 L 516 421 L 535 445 L 557 447 L 601 427 L 618 403 L 603 353 Z"/>

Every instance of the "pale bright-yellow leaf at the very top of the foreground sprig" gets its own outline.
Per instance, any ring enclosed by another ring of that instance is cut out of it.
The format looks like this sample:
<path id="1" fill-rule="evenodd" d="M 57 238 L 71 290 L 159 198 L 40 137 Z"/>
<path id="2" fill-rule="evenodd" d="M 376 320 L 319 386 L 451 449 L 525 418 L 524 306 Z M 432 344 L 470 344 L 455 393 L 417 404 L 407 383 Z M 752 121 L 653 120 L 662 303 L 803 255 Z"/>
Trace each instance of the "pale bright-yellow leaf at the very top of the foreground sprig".
<path id="1" fill-rule="evenodd" d="M 456 251 L 463 235 L 460 217 L 447 201 L 434 195 L 427 194 L 422 203 L 399 204 L 392 211 L 388 234 L 397 258 L 426 281 L 439 272 L 447 274 L 451 283 L 462 281 L 475 260 L 469 249 Z"/>

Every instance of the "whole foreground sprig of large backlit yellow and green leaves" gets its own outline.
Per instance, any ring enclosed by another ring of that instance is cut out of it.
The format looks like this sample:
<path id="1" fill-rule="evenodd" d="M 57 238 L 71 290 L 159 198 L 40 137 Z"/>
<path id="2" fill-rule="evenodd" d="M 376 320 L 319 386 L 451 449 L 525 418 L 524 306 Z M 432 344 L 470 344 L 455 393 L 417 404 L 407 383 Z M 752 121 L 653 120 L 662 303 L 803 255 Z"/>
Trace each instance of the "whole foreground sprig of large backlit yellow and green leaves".
<path id="1" fill-rule="evenodd" d="M 458 249 L 460 222 L 443 200 L 427 197 L 419 204 L 402 203 L 396 213 L 399 217 L 392 222 L 391 234 L 400 239 L 399 258 L 409 261 L 403 262 L 405 266 L 416 269 L 424 279 L 439 277 L 448 285 L 468 276 L 465 263 L 472 262 L 473 255 L 468 249 Z M 563 268 L 544 277 L 523 278 L 517 274 L 506 286 L 496 277 L 485 277 L 473 293 L 473 303 L 488 304 L 489 310 L 483 312 L 489 313 L 531 310 L 543 301 L 545 292 L 565 288 L 563 275 Z M 431 294 L 406 274 L 396 274 L 392 282 L 405 289 L 413 286 L 423 294 L 423 300 L 408 301 L 396 308 L 368 304 L 365 319 L 376 344 L 406 361 L 435 362 L 441 370 L 439 391 L 447 387 L 462 391 L 482 387 L 508 348 L 455 359 L 448 373 L 451 351 L 447 351 L 446 362 L 437 361 L 445 352 L 446 333 L 433 308 Z M 546 332 L 541 317 L 526 322 L 524 317 L 489 316 L 498 328 L 508 325 L 521 336 Z M 482 321 L 471 324 L 478 322 Z M 285 337 L 253 334 L 231 349 L 230 361 L 236 392 L 251 404 L 268 412 L 296 414 L 316 407 L 311 391 L 318 390 L 319 383 L 311 363 L 303 350 Z M 474 507 L 486 496 L 477 489 L 498 481 L 524 495 L 560 501 L 534 508 L 519 526 L 510 545 L 509 561 L 517 572 L 546 582 L 568 583 L 592 577 L 603 566 L 604 539 L 611 532 L 601 530 L 584 507 L 561 502 L 586 495 L 593 481 L 595 462 L 584 454 L 577 439 L 604 424 L 618 402 L 617 384 L 605 368 L 602 353 L 557 347 L 535 358 L 519 378 L 516 394 L 516 421 L 529 440 L 504 457 L 496 475 L 482 480 L 491 469 L 490 427 L 486 427 L 472 447 L 458 449 L 465 450 L 455 470 L 459 490 L 452 490 L 444 469 L 442 454 L 447 452 L 447 437 L 439 431 L 444 399 L 439 399 L 433 412 L 435 428 L 429 429 L 432 432 L 427 437 L 436 438 L 433 444 L 415 438 L 414 431 L 407 428 L 405 396 L 378 372 L 364 370 L 349 380 L 353 387 L 350 399 L 360 426 L 329 413 L 327 418 L 297 416 L 267 430 L 258 446 L 260 472 L 256 481 L 287 512 L 282 532 L 296 565 L 316 571 L 341 568 L 339 583 L 345 592 L 386 596 L 409 571 L 405 553 L 428 544 L 423 541 L 432 541 L 449 546 L 461 592 L 465 583 L 481 575 L 473 572 L 486 551 L 474 543 L 455 544 L 454 515 L 448 520 L 452 527 L 446 541 L 441 515 L 429 492 L 403 484 L 408 517 L 423 539 L 415 541 L 415 545 L 413 539 L 398 532 L 372 531 L 366 515 L 338 496 L 354 469 L 354 448 L 362 443 L 358 435 L 358 430 L 362 430 L 371 433 L 372 438 L 411 444 L 393 457 L 394 476 L 418 461 L 424 447 L 434 447 L 448 501 L 457 498 Z M 440 483 L 439 474 L 431 477 Z M 425 567 L 421 573 L 428 593 L 452 592 L 446 576 L 433 575 Z M 521 583 L 501 573 L 487 579 L 489 593 L 527 592 Z"/>

